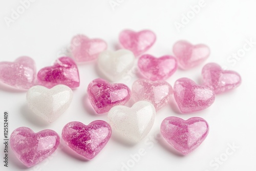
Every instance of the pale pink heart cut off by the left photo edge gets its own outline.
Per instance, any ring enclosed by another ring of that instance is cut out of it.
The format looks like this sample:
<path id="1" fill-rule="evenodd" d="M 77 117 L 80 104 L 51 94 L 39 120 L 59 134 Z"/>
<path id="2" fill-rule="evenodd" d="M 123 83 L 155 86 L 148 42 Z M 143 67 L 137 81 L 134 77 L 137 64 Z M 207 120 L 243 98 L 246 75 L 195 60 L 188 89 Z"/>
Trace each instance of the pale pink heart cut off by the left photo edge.
<path id="1" fill-rule="evenodd" d="M 22 56 L 14 62 L 0 62 L 0 82 L 15 89 L 28 90 L 35 85 L 36 66 L 32 58 Z"/>

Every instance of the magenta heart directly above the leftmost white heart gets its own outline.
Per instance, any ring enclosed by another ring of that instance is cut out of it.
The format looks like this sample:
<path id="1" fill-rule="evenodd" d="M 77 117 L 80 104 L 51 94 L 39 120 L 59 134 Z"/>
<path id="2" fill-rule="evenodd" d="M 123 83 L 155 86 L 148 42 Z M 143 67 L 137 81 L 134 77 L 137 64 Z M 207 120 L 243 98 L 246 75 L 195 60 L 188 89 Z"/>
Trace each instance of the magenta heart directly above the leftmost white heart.
<path id="1" fill-rule="evenodd" d="M 37 74 L 38 84 L 52 88 L 58 84 L 68 87 L 79 87 L 79 73 L 76 63 L 70 57 L 58 58 L 54 65 L 41 69 Z"/>

